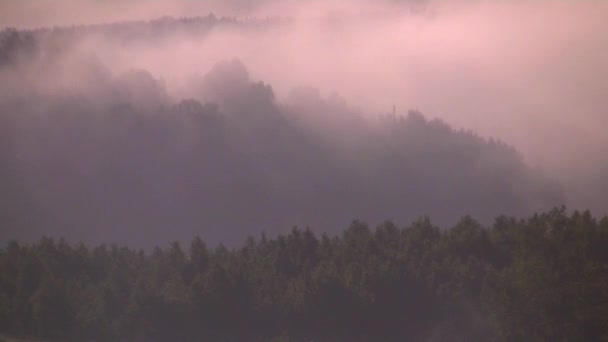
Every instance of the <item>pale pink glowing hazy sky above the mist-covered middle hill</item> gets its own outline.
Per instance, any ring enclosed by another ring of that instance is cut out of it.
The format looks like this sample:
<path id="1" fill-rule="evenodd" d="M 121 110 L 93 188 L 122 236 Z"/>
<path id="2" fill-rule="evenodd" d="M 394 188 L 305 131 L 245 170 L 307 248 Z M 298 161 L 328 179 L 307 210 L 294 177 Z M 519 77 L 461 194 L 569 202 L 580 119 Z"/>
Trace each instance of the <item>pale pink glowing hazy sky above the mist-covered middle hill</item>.
<path id="1" fill-rule="evenodd" d="M 117 49 L 81 48 L 117 71 L 144 68 L 179 93 L 192 73 L 239 58 L 279 99 L 300 85 L 367 112 L 415 108 L 516 146 L 562 179 L 608 165 L 608 2 L 0 0 L 0 25 L 102 23 L 164 15 L 293 20 L 255 34 L 215 31 Z M 171 65 L 171 68 L 167 68 Z"/>

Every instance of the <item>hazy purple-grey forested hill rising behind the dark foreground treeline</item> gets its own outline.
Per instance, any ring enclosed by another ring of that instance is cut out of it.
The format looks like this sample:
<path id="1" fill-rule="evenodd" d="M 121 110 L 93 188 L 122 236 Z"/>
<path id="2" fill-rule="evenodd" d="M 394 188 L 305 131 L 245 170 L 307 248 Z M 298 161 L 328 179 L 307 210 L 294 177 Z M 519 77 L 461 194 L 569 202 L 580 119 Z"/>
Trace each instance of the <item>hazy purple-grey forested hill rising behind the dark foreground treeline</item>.
<path id="1" fill-rule="evenodd" d="M 416 112 L 365 116 L 314 89 L 279 103 L 236 60 L 194 77 L 191 99 L 145 71 L 82 68 L 78 87 L 13 78 L 0 94 L 4 240 L 234 244 L 293 225 L 488 222 L 563 203 L 504 143 Z"/>

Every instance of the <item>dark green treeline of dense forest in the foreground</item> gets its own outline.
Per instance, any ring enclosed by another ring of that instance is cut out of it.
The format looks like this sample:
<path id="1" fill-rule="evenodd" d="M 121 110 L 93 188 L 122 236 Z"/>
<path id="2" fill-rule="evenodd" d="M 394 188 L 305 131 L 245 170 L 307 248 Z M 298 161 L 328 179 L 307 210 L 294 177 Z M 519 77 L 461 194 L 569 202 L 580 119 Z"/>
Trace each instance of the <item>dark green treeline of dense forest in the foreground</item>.
<path id="1" fill-rule="evenodd" d="M 152 252 L 43 238 L 0 250 L 0 331 L 97 341 L 601 341 L 608 217 L 427 217 Z"/>

